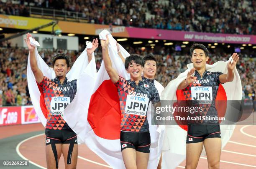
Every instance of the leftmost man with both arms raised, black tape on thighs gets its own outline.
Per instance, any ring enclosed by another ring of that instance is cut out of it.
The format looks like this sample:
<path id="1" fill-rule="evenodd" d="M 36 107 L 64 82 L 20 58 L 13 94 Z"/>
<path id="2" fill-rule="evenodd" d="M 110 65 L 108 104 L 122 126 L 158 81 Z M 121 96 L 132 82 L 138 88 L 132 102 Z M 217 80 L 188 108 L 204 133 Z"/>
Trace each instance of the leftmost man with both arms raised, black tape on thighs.
<path id="1" fill-rule="evenodd" d="M 66 75 L 71 68 L 71 60 L 64 53 L 58 53 L 53 59 L 56 78 L 53 80 L 45 77 L 38 68 L 35 47 L 30 44 L 28 33 L 25 42 L 30 53 L 30 65 L 36 78 L 41 95 L 44 96 L 44 104 L 47 111 L 46 122 L 46 162 L 48 169 L 58 168 L 58 162 L 63 153 L 65 168 L 74 169 L 77 165 L 77 134 L 68 126 L 61 117 L 64 109 L 74 99 L 77 93 L 77 80 L 68 81 Z M 98 40 L 93 40 L 93 47 L 87 49 L 88 60 L 92 59 L 92 53 L 98 47 Z"/>

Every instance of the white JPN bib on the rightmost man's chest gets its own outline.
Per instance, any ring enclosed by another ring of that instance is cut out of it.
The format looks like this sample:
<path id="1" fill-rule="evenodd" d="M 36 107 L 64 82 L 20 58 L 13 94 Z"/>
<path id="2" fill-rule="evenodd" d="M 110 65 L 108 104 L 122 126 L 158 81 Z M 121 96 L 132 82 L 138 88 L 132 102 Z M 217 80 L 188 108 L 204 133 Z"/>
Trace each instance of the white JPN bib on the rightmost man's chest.
<path id="1" fill-rule="evenodd" d="M 212 87 L 191 87 L 191 99 L 196 104 L 212 104 Z"/>

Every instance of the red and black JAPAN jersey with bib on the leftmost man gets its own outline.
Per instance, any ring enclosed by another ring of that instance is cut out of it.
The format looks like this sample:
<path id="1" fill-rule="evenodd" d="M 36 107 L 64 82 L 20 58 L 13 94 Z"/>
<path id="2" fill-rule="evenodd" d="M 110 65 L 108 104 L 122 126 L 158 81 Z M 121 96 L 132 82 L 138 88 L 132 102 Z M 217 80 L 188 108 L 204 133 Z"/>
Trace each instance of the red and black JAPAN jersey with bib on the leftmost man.
<path id="1" fill-rule="evenodd" d="M 69 129 L 61 114 L 77 93 L 77 80 L 69 82 L 66 77 L 61 85 L 58 77 L 50 80 L 44 76 L 42 82 L 38 83 L 38 88 L 41 94 L 44 94 L 44 103 L 47 109 L 46 128 Z"/>

